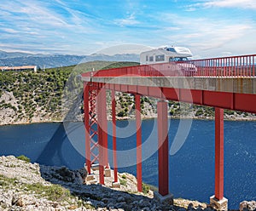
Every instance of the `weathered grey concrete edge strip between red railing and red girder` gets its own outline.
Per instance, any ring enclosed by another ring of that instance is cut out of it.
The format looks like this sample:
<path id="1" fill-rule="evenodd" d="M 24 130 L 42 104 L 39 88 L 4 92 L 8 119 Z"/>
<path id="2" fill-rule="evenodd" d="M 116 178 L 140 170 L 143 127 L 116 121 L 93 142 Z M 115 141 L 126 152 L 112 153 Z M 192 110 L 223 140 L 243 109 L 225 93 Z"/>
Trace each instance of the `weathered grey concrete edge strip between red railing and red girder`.
<path id="1" fill-rule="evenodd" d="M 256 94 L 256 77 L 82 77 L 84 82 Z"/>

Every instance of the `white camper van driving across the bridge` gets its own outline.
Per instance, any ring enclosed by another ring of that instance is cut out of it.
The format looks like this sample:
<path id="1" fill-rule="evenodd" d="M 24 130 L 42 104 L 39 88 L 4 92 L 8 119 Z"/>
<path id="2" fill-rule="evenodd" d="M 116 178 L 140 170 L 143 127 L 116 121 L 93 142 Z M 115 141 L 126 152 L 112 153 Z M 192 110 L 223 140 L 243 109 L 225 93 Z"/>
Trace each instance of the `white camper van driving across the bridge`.
<path id="1" fill-rule="evenodd" d="M 189 48 L 165 47 L 145 51 L 140 54 L 141 65 L 166 63 L 171 61 L 187 61 L 192 53 Z"/>

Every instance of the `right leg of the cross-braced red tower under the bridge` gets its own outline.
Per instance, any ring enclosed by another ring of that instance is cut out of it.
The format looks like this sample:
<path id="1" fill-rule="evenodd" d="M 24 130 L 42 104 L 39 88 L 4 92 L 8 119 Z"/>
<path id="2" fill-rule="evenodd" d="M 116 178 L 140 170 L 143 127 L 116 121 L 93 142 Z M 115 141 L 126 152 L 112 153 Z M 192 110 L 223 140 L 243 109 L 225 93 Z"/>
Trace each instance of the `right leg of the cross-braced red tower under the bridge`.
<path id="1" fill-rule="evenodd" d="M 106 89 L 98 90 L 96 97 L 98 117 L 99 173 L 100 184 L 104 185 L 104 167 L 108 165 L 108 122 Z"/>

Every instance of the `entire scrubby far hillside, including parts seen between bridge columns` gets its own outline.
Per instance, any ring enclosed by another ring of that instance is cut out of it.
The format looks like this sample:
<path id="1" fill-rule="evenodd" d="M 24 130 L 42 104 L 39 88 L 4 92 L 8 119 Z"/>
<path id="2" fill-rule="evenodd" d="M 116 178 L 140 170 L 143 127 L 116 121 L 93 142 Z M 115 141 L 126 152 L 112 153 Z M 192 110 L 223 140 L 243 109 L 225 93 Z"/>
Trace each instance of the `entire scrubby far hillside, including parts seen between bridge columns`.
<path id="1" fill-rule="evenodd" d="M 109 69 L 120 66 L 137 66 L 137 62 L 92 61 L 79 64 L 46 69 L 45 71 L 3 71 L 0 72 L 0 120 L 1 124 L 34 123 L 62 121 L 61 97 L 66 94 L 65 84 L 69 80 L 69 88 L 82 87 L 77 77 L 85 71 Z M 70 87 L 71 86 L 71 87 Z M 82 90 L 82 89 L 81 89 Z M 135 116 L 134 96 L 116 93 L 117 117 Z M 142 97 L 143 117 L 156 117 L 156 100 Z M 79 115 L 82 119 L 83 103 L 79 103 Z M 108 93 L 108 118 L 110 118 L 111 102 Z M 214 110 L 207 106 L 192 106 L 169 101 L 169 113 L 173 117 L 212 118 Z M 255 117 L 239 111 L 225 111 L 227 117 Z"/>

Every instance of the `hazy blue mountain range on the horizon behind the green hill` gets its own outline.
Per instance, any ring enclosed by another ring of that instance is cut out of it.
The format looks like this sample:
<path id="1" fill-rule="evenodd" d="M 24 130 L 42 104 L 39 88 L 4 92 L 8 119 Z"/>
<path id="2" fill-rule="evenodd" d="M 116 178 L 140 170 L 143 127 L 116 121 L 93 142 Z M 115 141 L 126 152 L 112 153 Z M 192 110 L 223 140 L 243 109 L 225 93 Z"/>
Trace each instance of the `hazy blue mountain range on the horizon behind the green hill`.
<path id="1" fill-rule="evenodd" d="M 73 66 L 81 62 L 93 60 L 108 61 L 139 61 L 138 54 L 90 54 L 90 55 L 69 55 L 69 54 L 26 54 L 20 52 L 0 51 L 0 66 L 39 66 L 40 68 Z"/>

